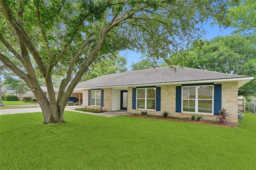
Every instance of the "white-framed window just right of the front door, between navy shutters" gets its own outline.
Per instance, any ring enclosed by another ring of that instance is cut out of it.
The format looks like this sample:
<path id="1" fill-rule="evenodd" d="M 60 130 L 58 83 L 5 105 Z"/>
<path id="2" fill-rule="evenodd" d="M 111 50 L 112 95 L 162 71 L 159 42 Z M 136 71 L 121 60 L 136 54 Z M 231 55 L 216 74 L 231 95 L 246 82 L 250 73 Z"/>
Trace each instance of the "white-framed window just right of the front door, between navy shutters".
<path id="1" fill-rule="evenodd" d="M 156 88 L 138 88 L 137 109 L 156 110 Z"/>

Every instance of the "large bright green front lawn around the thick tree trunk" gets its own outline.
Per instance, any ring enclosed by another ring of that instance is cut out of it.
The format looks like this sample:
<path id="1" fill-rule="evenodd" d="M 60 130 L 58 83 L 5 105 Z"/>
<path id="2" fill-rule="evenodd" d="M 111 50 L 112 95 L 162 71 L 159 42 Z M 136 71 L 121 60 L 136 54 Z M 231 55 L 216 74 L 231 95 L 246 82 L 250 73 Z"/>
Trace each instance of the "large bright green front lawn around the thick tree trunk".
<path id="1" fill-rule="evenodd" d="M 248 128 L 215 127 L 66 111 L 66 125 L 42 113 L 0 116 L 0 169 L 254 169 L 256 115 Z"/>

